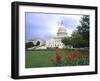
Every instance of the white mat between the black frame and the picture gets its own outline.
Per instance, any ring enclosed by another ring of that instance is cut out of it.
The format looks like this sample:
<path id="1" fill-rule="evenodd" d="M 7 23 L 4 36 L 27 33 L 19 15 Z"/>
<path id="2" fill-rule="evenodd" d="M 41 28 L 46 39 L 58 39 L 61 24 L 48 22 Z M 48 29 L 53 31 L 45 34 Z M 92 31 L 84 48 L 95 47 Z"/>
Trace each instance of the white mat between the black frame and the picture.
<path id="1" fill-rule="evenodd" d="M 90 15 L 90 65 L 48 68 L 25 68 L 25 12 L 65 13 Z M 86 9 L 19 6 L 19 75 L 39 75 L 95 71 L 95 11 Z"/>

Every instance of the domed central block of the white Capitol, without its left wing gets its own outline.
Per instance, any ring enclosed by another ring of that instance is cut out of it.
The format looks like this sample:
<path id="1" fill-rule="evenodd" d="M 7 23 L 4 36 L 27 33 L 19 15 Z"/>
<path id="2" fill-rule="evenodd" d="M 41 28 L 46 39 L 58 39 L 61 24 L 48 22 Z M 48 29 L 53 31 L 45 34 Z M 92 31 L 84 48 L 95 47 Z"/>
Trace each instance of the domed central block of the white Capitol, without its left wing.
<path id="1" fill-rule="evenodd" d="M 67 37 L 67 31 L 63 25 L 63 21 L 61 21 L 60 27 L 57 32 L 57 36 L 49 40 L 46 40 L 46 47 L 47 48 L 64 48 L 65 45 L 61 42 L 62 38 L 64 37 Z"/>

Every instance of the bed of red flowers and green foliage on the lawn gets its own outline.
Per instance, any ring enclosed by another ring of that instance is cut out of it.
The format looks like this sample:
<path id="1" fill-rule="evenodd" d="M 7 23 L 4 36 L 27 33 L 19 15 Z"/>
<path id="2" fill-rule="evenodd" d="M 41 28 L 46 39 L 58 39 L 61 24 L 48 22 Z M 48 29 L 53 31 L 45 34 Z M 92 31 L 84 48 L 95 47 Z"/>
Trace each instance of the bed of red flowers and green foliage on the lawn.
<path id="1" fill-rule="evenodd" d="M 86 54 L 86 53 L 85 53 Z M 56 50 L 54 59 L 50 62 L 55 66 L 76 66 L 86 65 L 88 61 L 88 53 L 85 55 L 83 52 L 67 52 L 64 49 Z"/>

